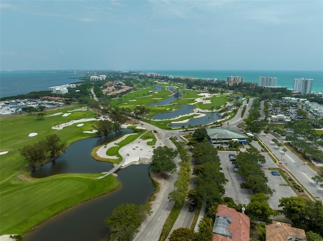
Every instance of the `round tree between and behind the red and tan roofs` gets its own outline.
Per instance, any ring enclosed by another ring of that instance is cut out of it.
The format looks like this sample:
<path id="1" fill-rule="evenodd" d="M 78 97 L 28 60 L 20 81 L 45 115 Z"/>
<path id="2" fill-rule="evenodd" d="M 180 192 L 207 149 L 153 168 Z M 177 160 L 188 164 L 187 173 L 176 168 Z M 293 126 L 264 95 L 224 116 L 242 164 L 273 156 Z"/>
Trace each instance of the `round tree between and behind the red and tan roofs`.
<path id="1" fill-rule="evenodd" d="M 252 195 L 246 207 L 246 214 L 252 219 L 261 218 L 261 220 L 267 222 L 273 214 L 273 210 L 267 203 L 268 199 L 269 196 L 264 193 Z"/>

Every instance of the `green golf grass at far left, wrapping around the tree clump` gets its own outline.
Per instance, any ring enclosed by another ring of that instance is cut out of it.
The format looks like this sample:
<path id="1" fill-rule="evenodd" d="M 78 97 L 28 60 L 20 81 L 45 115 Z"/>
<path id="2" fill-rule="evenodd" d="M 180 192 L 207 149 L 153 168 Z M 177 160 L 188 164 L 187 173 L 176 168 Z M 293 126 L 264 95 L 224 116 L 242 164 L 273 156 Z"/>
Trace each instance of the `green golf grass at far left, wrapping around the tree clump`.
<path id="1" fill-rule="evenodd" d="M 20 156 L 19 148 L 44 140 L 49 134 L 57 134 L 68 145 L 71 143 L 94 137 L 96 134 L 83 133 L 92 130 L 96 121 L 84 121 L 83 126 L 74 123 L 62 130 L 51 127 L 57 123 L 64 123 L 82 118 L 93 118 L 95 113 L 90 110 L 73 111 L 80 106 L 69 106 L 46 111 L 43 120 L 37 119 L 37 114 L 23 114 L 0 118 L 0 151 L 9 151 L 0 156 L 0 235 L 25 233 L 36 224 L 44 221 L 56 213 L 67 209 L 84 200 L 88 200 L 103 193 L 110 192 L 119 186 L 112 175 L 96 180 L 97 175 L 55 175 L 48 178 L 31 181 L 20 179 L 18 176 L 29 176 L 30 170 L 26 160 Z M 62 114 L 48 116 L 55 113 L 71 113 L 67 117 Z M 36 132 L 38 135 L 29 137 Z"/>

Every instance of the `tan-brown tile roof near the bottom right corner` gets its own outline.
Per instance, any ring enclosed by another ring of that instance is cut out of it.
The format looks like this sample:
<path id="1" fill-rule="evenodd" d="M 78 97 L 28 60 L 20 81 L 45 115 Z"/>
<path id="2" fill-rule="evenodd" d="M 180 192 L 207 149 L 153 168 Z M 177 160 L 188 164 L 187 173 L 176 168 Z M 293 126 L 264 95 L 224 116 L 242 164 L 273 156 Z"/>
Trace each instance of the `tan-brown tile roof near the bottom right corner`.
<path id="1" fill-rule="evenodd" d="M 273 220 L 273 224 L 266 225 L 266 241 L 286 241 L 290 236 L 306 240 L 304 229 L 292 227 L 289 223 Z"/>

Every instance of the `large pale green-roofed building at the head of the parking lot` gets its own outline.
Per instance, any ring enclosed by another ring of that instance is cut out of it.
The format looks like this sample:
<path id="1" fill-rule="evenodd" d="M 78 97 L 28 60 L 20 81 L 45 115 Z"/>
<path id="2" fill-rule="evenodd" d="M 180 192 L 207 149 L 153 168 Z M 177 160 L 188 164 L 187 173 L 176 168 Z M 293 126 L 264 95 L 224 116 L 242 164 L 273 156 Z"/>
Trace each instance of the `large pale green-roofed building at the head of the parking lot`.
<path id="1" fill-rule="evenodd" d="M 206 129 L 207 138 L 214 146 L 229 147 L 229 141 L 238 141 L 239 143 L 247 143 L 248 136 L 243 134 L 236 128 L 210 128 Z"/>

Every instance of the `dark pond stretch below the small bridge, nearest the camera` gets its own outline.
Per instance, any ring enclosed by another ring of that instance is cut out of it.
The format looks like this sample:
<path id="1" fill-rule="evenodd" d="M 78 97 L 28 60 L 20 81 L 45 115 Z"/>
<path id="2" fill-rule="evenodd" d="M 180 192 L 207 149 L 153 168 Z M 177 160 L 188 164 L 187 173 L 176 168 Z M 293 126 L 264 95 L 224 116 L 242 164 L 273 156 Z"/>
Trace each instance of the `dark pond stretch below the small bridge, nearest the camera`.
<path id="1" fill-rule="evenodd" d="M 121 187 L 116 191 L 78 204 L 46 220 L 27 233 L 23 241 L 101 241 L 109 229 L 104 219 L 123 203 L 145 204 L 154 187 L 147 165 L 132 165 L 118 171 Z"/>

